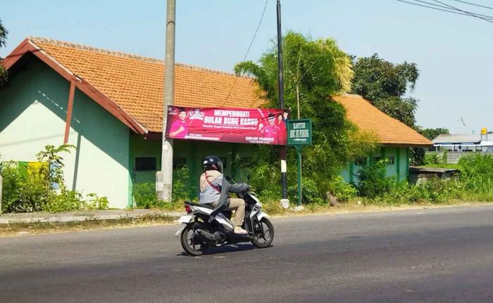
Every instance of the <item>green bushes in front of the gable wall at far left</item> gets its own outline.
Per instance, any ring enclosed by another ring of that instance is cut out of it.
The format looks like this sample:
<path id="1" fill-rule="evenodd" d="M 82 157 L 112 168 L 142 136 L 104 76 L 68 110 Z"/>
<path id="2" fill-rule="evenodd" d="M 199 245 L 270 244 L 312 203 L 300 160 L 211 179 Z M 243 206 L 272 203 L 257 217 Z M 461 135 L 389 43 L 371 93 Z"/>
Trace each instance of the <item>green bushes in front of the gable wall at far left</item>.
<path id="1" fill-rule="evenodd" d="M 68 191 L 63 183 L 63 158 L 60 153 L 70 152 L 71 146 L 46 146 L 38 153 L 40 162 L 5 162 L 2 212 L 68 212 L 80 209 L 107 209 L 108 199 L 96 194 L 87 195 L 87 201 L 77 191 Z M 48 163 L 52 163 L 49 165 Z M 51 167 L 51 169 L 50 169 Z M 52 187 L 58 184 L 60 191 Z"/>

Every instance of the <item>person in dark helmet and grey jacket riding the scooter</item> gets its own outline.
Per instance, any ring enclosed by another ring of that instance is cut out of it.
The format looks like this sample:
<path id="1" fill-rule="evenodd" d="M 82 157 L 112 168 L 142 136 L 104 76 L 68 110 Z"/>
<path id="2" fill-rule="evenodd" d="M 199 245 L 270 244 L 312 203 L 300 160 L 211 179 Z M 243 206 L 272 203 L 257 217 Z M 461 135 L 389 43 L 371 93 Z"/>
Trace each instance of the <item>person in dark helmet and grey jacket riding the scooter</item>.
<path id="1" fill-rule="evenodd" d="M 242 193 L 248 191 L 250 186 L 246 183 L 231 185 L 227 180 L 224 180 L 223 161 L 215 155 L 205 157 L 202 167 L 204 168 L 204 174 L 200 176 L 200 204 L 208 204 L 215 207 L 211 217 L 222 210 L 236 210 L 235 233 L 246 234 L 247 232 L 242 228 L 245 214 L 244 200 L 230 198 L 229 195 L 227 199 L 224 199 L 225 191 L 223 189 L 230 193 Z M 223 191 L 223 197 L 221 197 L 221 191 Z"/>

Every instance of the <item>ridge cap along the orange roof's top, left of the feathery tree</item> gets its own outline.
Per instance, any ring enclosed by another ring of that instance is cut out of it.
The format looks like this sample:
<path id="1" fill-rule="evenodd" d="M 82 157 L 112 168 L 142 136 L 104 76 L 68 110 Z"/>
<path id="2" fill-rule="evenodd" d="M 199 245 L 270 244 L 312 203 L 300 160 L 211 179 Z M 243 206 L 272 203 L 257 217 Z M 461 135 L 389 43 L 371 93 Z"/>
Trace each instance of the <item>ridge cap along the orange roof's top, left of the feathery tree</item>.
<path id="1" fill-rule="evenodd" d="M 69 41 L 61 41 L 61 40 L 56 40 L 56 39 L 51 39 L 51 38 L 46 38 L 46 37 L 34 37 L 30 36 L 27 37 L 30 41 L 33 43 L 46 43 L 46 44 L 53 44 L 53 45 L 58 45 L 58 46 L 65 46 L 73 49 L 80 49 L 82 51 L 93 51 L 96 53 L 105 53 L 106 55 L 110 56 L 116 56 L 116 57 L 122 57 L 122 58 L 130 58 L 130 59 L 135 59 L 135 60 L 142 60 L 146 62 L 151 62 L 151 63 L 161 63 L 164 65 L 164 60 L 161 59 L 156 59 L 152 57 L 147 57 L 147 56 L 140 56 L 140 55 L 135 55 L 132 53 L 124 53 L 122 51 L 110 51 L 107 49 L 100 49 L 95 46 L 89 46 L 85 44 L 78 44 L 78 43 L 73 43 Z M 246 76 L 246 75 L 236 75 L 234 72 L 225 72 L 223 70 L 216 70 L 213 68 L 208 68 L 208 67 L 200 67 L 196 65 L 189 65 L 185 63 L 175 63 L 175 66 L 177 67 L 184 67 L 189 70 L 200 70 L 203 72 L 213 72 L 215 74 L 219 75 L 228 75 L 228 76 L 234 76 L 234 77 L 239 77 L 239 78 L 244 78 L 244 79 L 254 79 L 254 77 Z"/>

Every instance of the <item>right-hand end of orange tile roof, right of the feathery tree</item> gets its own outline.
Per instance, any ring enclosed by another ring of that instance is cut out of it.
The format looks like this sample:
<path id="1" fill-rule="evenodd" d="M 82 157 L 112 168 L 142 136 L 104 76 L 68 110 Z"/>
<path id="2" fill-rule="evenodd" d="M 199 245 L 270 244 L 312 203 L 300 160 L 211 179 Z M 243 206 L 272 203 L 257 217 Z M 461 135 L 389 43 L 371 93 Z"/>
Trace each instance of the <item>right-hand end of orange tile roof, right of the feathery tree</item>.
<path id="1" fill-rule="evenodd" d="M 363 131 L 373 132 L 383 144 L 432 146 L 432 142 L 411 127 L 381 112 L 363 97 L 351 94 L 332 96 L 346 108 L 349 121 Z"/>

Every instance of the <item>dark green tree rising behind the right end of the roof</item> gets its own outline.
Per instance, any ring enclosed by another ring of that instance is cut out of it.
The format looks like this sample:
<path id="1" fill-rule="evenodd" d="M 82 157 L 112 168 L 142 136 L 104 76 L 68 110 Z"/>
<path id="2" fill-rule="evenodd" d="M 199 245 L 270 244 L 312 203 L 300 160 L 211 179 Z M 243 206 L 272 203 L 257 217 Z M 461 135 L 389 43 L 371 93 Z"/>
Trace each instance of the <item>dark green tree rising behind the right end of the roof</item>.
<path id="1" fill-rule="evenodd" d="M 354 79 L 351 91 L 366 98 L 390 117 L 414 127 L 414 112 L 418 101 L 404 97 L 412 92 L 419 77 L 415 63 L 393 64 L 375 53 L 354 62 Z"/>

